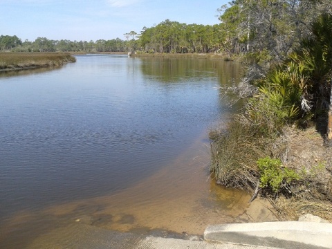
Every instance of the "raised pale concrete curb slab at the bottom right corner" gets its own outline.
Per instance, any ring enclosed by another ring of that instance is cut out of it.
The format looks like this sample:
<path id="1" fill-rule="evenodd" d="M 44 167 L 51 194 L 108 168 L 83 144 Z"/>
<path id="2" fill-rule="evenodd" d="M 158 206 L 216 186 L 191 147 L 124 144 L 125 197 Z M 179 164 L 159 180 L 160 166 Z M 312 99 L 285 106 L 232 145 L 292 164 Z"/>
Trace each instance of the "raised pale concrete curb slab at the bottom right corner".
<path id="1" fill-rule="evenodd" d="M 332 248 L 332 224 L 302 221 L 210 225 L 204 239 L 277 248 Z"/>

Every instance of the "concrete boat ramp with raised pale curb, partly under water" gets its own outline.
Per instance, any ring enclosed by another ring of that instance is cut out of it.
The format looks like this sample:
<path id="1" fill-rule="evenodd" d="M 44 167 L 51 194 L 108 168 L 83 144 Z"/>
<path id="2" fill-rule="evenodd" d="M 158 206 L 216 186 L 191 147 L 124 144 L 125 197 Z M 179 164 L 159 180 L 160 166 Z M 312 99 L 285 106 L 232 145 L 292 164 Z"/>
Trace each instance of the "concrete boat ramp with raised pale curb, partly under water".
<path id="1" fill-rule="evenodd" d="M 306 221 L 284 221 L 264 223 L 232 223 L 210 225 L 204 237 L 185 236 L 185 239 L 155 237 L 151 234 L 132 234 L 77 224 L 73 233 L 62 234 L 54 231 L 53 236 L 62 239 L 50 241 L 29 248 L 80 248 L 80 249 L 252 249 L 291 248 L 326 249 L 332 248 L 332 223 Z M 68 232 L 68 230 L 67 230 Z M 75 234 L 73 236 L 73 234 Z M 158 235 L 158 234 L 157 234 Z M 56 241 L 56 242 L 55 242 Z M 40 242 L 40 241 L 39 241 Z M 41 247 L 42 246 L 42 247 Z"/>

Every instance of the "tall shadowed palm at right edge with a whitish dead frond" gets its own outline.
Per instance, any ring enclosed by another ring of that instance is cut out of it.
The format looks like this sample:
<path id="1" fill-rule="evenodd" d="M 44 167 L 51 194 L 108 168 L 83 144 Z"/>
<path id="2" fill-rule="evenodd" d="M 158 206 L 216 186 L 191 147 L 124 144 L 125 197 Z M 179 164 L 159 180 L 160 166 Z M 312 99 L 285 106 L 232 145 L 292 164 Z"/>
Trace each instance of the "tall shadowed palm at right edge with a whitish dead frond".
<path id="1" fill-rule="evenodd" d="M 311 37 L 302 39 L 284 63 L 302 92 L 301 108 L 316 118 L 328 113 L 327 140 L 332 140 L 332 15 L 323 13 L 311 24 Z M 296 70 L 290 68 L 296 67 Z"/>

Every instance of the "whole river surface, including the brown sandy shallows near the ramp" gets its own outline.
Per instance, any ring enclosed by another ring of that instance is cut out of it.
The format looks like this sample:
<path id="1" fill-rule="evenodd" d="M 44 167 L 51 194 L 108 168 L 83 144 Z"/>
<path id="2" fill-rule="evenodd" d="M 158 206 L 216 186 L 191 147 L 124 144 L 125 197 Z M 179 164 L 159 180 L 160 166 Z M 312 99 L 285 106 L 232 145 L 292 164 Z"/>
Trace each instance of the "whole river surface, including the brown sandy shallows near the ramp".
<path id="1" fill-rule="evenodd" d="M 230 62 L 122 55 L 1 73 L 2 243 L 19 238 L 28 248 L 41 230 L 82 216 L 89 225 L 109 217 L 99 223 L 109 229 L 161 228 L 165 217 L 147 215 L 167 200 L 177 200 L 167 210 L 181 201 L 216 208 L 218 201 L 202 201 L 215 199 L 205 144 L 208 129 L 234 111 L 216 87 L 238 77 Z M 193 185 L 202 190 L 194 197 Z M 117 222 L 123 217 L 133 218 Z"/>

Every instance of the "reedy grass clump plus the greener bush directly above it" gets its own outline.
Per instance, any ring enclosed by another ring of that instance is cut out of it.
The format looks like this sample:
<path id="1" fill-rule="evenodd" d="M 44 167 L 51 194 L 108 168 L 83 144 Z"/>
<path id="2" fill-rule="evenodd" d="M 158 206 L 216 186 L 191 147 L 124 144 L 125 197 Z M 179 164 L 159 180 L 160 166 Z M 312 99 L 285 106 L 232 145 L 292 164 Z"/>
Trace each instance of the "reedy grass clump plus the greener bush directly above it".
<path id="1" fill-rule="evenodd" d="M 225 129 L 210 132 L 210 171 L 217 183 L 252 190 L 260 176 L 257 160 L 284 154 L 286 145 L 278 138 L 298 113 L 280 95 L 273 95 L 258 93 Z"/>

